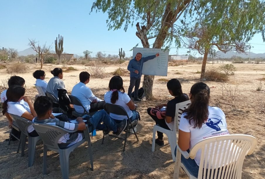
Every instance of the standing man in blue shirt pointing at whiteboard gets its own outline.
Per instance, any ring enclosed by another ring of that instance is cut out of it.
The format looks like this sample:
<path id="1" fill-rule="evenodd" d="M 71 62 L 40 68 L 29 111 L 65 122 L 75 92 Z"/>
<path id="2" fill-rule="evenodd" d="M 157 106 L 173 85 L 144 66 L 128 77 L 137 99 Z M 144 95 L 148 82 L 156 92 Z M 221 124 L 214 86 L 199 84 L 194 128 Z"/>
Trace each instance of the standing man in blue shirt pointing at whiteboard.
<path id="1" fill-rule="evenodd" d="M 148 60 L 152 60 L 158 56 L 159 56 L 159 53 L 142 58 L 141 53 L 136 53 L 135 58 L 130 60 L 128 67 L 127 67 L 127 69 L 130 71 L 130 86 L 128 89 L 128 95 L 131 98 L 131 92 L 132 92 L 132 89 L 134 88 L 134 101 L 141 101 L 138 98 L 138 89 L 139 89 L 140 82 L 141 82 L 143 63 L 147 62 Z"/>

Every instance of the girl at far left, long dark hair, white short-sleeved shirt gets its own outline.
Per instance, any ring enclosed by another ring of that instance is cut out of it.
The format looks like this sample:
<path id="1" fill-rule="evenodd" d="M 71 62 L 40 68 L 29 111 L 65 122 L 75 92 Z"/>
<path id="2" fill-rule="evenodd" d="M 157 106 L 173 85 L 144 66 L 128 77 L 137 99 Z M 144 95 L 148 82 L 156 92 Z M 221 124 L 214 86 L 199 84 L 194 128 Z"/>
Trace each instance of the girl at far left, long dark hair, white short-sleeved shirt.
<path id="1" fill-rule="evenodd" d="M 25 88 L 22 86 L 10 86 L 6 91 L 7 99 L 2 104 L 3 114 L 8 112 L 9 114 L 15 114 L 32 121 L 37 114 L 33 108 L 30 97 L 24 96 L 24 94 Z M 28 126 L 28 133 L 32 137 L 38 136 L 32 125 Z"/>

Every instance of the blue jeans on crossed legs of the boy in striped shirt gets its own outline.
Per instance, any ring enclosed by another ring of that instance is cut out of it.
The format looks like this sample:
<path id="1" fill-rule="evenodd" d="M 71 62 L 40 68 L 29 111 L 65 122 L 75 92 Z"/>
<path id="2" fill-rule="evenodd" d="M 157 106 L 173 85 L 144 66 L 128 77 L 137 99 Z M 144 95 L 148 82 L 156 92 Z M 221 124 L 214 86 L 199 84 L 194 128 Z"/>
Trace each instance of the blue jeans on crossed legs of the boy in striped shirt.
<path id="1" fill-rule="evenodd" d="M 84 120 L 89 120 L 91 124 L 93 124 L 91 131 L 94 131 L 95 129 L 101 131 L 109 129 L 110 131 L 117 132 L 116 122 L 110 118 L 105 110 L 100 110 L 93 116 L 84 115 L 83 118 L 85 118 Z M 101 122 L 103 122 L 103 124 L 101 124 Z"/>

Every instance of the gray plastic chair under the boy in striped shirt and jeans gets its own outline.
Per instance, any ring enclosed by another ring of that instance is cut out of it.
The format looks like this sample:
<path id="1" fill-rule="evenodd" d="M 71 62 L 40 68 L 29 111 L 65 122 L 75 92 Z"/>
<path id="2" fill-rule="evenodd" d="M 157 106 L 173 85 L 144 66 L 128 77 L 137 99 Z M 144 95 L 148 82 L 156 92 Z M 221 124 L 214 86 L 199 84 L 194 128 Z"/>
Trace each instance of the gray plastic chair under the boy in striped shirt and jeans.
<path id="1" fill-rule="evenodd" d="M 86 125 L 86 130 L 84 130 L 85 138 L 76 144 L 73 144 L 64 149 L 59 148 L 58 141 L 66 133 L 73 133 L 76 131 L 69 131 L 59 126 L 49 125 L 49 124 L 40 124 L 33 123 L 33 127 L 40 135 L 43 141 L 43 174 L 46 174 L 46 161 L 47 161 L 47 150 L 52 150 L 59 153 L 59 159 L 61 164 L 61 172 L 63 178 L 69 178 L 69 154 L 79 145 L 83 144 L 85 141 L 88 141 L 88 151 L 90 156 L 91 170 L 94 170 L 93 167 L 93 156 L 92 156 L 92 147 L 89 136 L 88 126 Z"/>

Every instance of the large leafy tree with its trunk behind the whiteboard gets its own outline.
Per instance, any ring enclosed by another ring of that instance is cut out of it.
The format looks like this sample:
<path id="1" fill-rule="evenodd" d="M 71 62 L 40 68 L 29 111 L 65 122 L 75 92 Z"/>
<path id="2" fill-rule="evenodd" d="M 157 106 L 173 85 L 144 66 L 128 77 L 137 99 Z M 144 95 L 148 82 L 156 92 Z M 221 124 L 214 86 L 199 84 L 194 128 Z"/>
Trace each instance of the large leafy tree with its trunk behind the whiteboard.
<path id="1" fill-rule="evenodd" d="M 222 20 L 223 18 L 222 14 L 224 11 L 222 11 L 222 8 L 228 7 L 228 10 L 225 11 L 228 20 L 231 18 L 233 21 L 237 21 L 240 20 L 237 10 L 240 10 L 242 6 L 246 6 L 244 9 L 250 8 L 254 12 L 257 12 L 257 9 L 264 8 L 264 2 L 257 1 L 253 0 L 254 3 L 252 3 L 252 1 L 245 2 L 244 0 L 95 0 L 91 11 L 96 9 L 96 11 L 101 10 L 103 13 L 108 13 L 107 26 L 109 30 L 120 29 L 124 25 L 124 30 L 126 31 L 129 25 L 133 26 L 136 23 L 136 36 L 141 40 L 144 48 L 150 47 L 148 40 L 152 38 L 155 38 L 153 48 L 161 48 L 162 46 L 169 48 L 172 42 L 175 42 L 175 46 L 180 47 L 181 41 L 184 41 L 183 37 L 187 34 L 188 27 L 197 20 L 200 20 L 202 15 L 204 15 L 203 19 L 207 23 L 208 21 L 210 22 L 209 19 L 213 19 L 212 22 L 216 24 L 215 21 Z M 219 5 L 217 13 L 212 13 L 209 16 L 207 9 L 204 7 L 206 5 L 207 7 L 212 5 L 217 7 L 217 4 Z M 234 7 L 236 6 L 237 9 L 235 10 Z M 230 10 L 229 7 L 233 8 Z M 256 24 L 260 23 L 261 18 L 255 18 L 248 13 L 244 15 L 245 19 L 249 19 L 253 23 L 253 25 L 247 28 L 245 33 L 247 34 L 256 27 Z M 190 16 L 190 18 L 186 18 L 186 16 Z M 262 17 L 264 13 L 256 13 L 256 16 Z M 247 20 L 244 22 L 247 22 Z M 247 23 L 249 24 L 249 22 Z M 216 31 L 217 33 L 221 32 L 222 24 L 219 27 L 221 29 Z M 236 26 L 231 27 L 231 31 L 235 29 Z M 263 27 L 260 30 L 262 31 Z M 242 33 L 241 36 L 245 34 Z M 240 33 L 236 35 L 239 36 Z M 153 80 L 154 76 L 144 75 L 143 88 L 148 100 L 153 97 Z"/>

